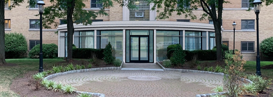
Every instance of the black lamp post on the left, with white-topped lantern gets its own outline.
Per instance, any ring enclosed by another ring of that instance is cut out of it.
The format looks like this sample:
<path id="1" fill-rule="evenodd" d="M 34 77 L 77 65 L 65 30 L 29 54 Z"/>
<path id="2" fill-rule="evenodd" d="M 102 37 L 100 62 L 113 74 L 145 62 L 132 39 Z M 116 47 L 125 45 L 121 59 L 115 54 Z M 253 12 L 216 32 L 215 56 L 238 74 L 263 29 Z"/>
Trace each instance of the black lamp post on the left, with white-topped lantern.
<path id="1" fill-rule="evenodd" d="M 43 12 L 44 12 L 44 1 L 40 0 L 37 2 L 37 5 L 38 5 L 38 11 L 39 11 L 39 14 L 40 14 L 40 53 L 39 53 L 39 57 L 40 57 L 40 60 L 39 60 L 39 72 L 43 72 L 44 71 L 44 67 L 43 67 L 43 37 L 42 37 L 42 15 L 43 15 Z"/>

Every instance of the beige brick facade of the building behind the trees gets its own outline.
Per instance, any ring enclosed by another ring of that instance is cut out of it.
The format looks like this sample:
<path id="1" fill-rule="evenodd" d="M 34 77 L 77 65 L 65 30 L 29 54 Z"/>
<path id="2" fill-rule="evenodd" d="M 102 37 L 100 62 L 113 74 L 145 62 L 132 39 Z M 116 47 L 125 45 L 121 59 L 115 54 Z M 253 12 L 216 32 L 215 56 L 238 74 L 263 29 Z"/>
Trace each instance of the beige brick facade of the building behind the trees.
<path id="1" fill-rule="evenodd" d="M 27 1 L 25 1 L 27 2 Z M 46 3 L 45 6 L 49 6 L 49 0 L 44 1 Z M 255 49 L 254 52 L 244 52 L 243 55 L 245 59 L 255 60 L 256 52 L 257 52 L 257 41 L 256 41 L 256 15 L 253 10 L 247 12 L 247 8 L 241 8 L 242 1 L 241 0 L 229 0 L 230 3 L 223 4 L 223 14 L 222 14 L 222 27 L 224 30 L 222 31 L 222 41 L 228 41 L 229 49 L 233 49 L 233 21 L 236 22 L 236 32 L 235 32 L 235 49 L 241 50 L 241 42 L 242 41 L 254 41 Z M 99 10 L 99 8 L 91 8 L 90 1 L 85 2 L 86 10 Z M 97 19 L 103 19 L 103 21 L 122 21 L 124 18 L 124 10 L 120 7 L 120 4 L 113 3 L 114 7 L 106 8 L 106 12 L 109 16 L 98 16 Z M 34 16 L 38 14 L 37 10 L 26 8 L 28 4 L 23 3 L 21 6 L 13 8 L 12 10 L 5 10 L 5 19 L 11 20 L 11 29 L 6 30 L 5 32 L 20 32 L 22 33 L 28 42 L 29 40 L 39 40 L 39 30 L 32 31 L 29 28 L 29 20 L 30 19 L 39 19 L 39 17 Z M 161 10 L 162 11 L 162 10 Z M 270 12 L 273 11 L 273 5 L 263 6 L 261 8 L 261 13 L 259 14 L 259 43 L 263 41 L 265 38 L 273 36 L 271 30 L 273 27 L 271 26 L 272 14 Z M 200 15 L 203 13 L 201 9 L 193 11 L 197 16 L 196 20 L 190 20 L 190 22 L 197 23 L 209 23 L 209 20 L 199 21 Z M 157 13 L 159 14 L 159 13 Z M 178 16 L 176 12 L 170 16 L 169 19 L 159 20 L 157 21 L 176 21 L 177 19 L 185 19 L 184 15 Z M 188 17 L 187 19 L 190 19 Z M 241 30 L 241 20 L 254 20 L 254 30 Z M 56 20 L 59 21 L 59 20 Z M 43 43 L 55 43 L 58 44 L 58 35 L 54 32 L 57 31 L 56 28 L 52 28 L 50 30 L 44 29 L 43 31 Z M 28 47 L 29 48 L 29 47 Z"/>

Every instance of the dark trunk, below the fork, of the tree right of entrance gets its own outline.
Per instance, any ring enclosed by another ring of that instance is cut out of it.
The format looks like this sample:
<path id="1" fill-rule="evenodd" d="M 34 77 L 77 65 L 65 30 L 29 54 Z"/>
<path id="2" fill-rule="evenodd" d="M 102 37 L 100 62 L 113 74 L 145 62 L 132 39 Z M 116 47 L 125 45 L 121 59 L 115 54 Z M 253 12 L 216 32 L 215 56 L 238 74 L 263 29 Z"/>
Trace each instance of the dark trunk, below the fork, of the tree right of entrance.
<path id="1" fill-rule="evenodd" d="M 215 42 L 216 42 L 216 61 L 221 62 L 223 61 L 222 55 L 222 33 L 221 33 L 221 24 L 222 20 L 220 21 L 217 19 L 217 22 L 213 22 L 214 29 L 215 29 Z"/>

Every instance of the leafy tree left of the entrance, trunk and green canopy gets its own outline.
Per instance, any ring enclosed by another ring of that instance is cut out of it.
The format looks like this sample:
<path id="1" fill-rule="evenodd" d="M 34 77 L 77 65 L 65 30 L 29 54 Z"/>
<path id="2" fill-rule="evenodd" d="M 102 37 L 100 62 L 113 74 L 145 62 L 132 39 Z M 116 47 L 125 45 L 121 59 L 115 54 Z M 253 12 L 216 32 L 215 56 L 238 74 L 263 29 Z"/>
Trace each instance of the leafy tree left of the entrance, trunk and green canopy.
<path id="1" fill-rule="evenodd" d="M 36 0 L 30 0 L 30 6 L 34 6 Z M 111 0 L 100 0 L 97 3 L 103 3 L 102 8 L 99 11 L 87 11 L 84 2 L 87 0 L 50 0 L 52 6 L 47 6 L 43 13 L 43 27 L 51 28 L 54 24 L 55 28 L 60 24 L 55 19 L 66 19 L 67 20 L 67 61 L 72 59 L 72 45 L 73 45 L 73 34 L 74 26 L 73 23 L 83 25 L 91 25 L 92 19 L 96 19 L 97 15 L 106 16 L 108 15 L 104 9 L 107 7 L 113 7 Z M 36 16 L 39 16 L 37 14 Z"/>

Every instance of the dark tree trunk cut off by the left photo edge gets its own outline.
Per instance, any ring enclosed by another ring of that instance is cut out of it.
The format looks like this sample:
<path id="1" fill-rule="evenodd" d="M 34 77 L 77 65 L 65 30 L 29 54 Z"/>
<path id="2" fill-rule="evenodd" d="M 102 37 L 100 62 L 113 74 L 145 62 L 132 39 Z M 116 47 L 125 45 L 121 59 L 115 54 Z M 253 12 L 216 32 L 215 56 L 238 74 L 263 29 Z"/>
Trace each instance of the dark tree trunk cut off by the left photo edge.
<path id="1" fill-rule="evenodd" d="M 0 64 L 5 61 L 5 0 L 0 0 Z"/>

